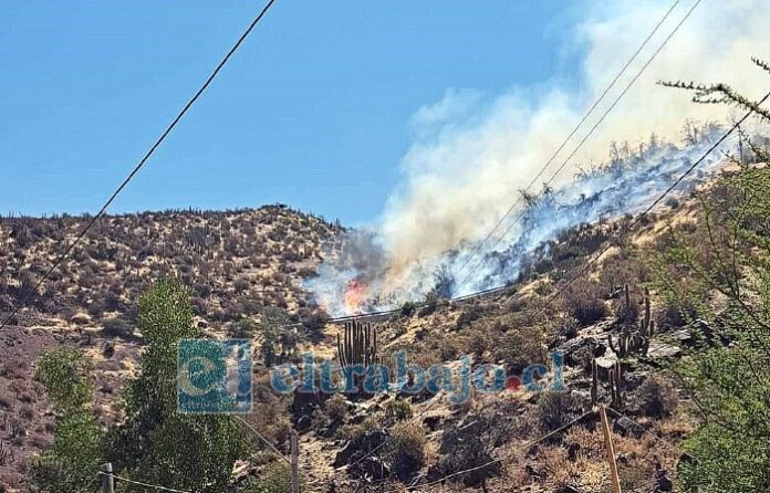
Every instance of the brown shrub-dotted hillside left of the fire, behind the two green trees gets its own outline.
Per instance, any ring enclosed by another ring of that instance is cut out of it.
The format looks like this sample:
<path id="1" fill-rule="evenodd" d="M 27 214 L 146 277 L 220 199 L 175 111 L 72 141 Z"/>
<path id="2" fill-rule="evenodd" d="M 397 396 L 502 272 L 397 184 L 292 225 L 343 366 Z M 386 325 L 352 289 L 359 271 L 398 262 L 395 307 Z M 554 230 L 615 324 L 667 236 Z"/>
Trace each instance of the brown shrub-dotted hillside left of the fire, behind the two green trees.
<path id="1" fill-rule="evenodd" d="M 266 305 L 285 308 L 296 323 L 323 317 L 301 280 L 313 274 L 339 224 L 284 206 L 108 216 L 34 293 L 39 276 L 89 220 L 0 220 L 0 316 L 27 298 L 0 334 L 0 485 L 22 487 L 28 459 L 52 440 L 53 415 L 33 378 L 44 348 L 82 347 L 94 364 L 94 410 L 103 423 L 117 417 L 143 344 L 134 333 L 136 304 L 154 280 L 184 280 L 197 323 L 211 336 L 258 318 Z"/>

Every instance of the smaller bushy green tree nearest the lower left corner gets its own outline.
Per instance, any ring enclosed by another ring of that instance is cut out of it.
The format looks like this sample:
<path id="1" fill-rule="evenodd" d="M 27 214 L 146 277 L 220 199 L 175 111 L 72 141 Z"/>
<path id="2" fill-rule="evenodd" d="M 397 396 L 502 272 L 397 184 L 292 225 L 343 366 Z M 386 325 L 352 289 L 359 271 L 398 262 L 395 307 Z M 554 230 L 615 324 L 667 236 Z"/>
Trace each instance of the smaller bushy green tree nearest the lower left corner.
<path id="1" fill-rule="evenodd" d="M 91 366 L 76 349 L 44 353 L 38 379 L 56 412 L 53 445 L 31 466 L 31 478 L 43 492 L 93 492 L 98 487 L 102 432 L 90 403 Z"/>

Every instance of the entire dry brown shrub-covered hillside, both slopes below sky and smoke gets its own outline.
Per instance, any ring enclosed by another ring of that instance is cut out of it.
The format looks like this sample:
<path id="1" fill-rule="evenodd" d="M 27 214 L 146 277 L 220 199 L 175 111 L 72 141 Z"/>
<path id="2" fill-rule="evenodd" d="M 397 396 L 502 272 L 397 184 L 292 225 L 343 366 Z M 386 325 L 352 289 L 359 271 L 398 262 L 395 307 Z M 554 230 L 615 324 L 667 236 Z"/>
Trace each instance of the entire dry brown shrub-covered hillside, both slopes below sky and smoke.
<path id="1" fill-rule="evenodd" d="M 62 238 L 84 220 L 3 221 L 4 310 L 33 282 L 23 273 L 39 274 Z M 521 279 L 506 292 L 462 302 L 431 298 L 372 322 L 378 353 L 391 367 L 388 355 L 403 349 L 410 364 L 424 367 L 444 363 L 456 370 L 469 355 L 475 365 L 500 365 L 514 376 L 527 365 L 548 364 L 550 353 L 563 354 L 563 392 L 533 394 L 513 385 L 498 394 L 472 392 L 468 401 L 451 405 L 445 394 L 278 396 L 270 388 L 267 364 L 299 364 L 303 350 L 337 357 L 335 336 L 343 327 L 323 326 L 323 314 L 311 306 L 299 280 L 312 274 L 321 244 L 339 227 L 282 207 L 105 218 L 1 335 L 0 481 L 28 491 L 27 463 L 52 439 L 53 416 L 33 378 L 41 348 L 82 347 L 94 365 L 100 422 L 119 420 L 116 403 L 126 377 L 136 371 L 143 345 L 141 334 L 131 329 L 135 303 L 154 279 L 176 274 L 189 286 L 207 335 L 227 334 L 242 318 L 259 319 L 264 306 L 284 308 L 289 322 L 303 322 L 313 333 L 292 343 L 299 347 L 284 344 L 273 361 L 259 352 L 256 411 L 247 418 L 283 452 L 292 430 L 300 433 L 305 491 L 397 492 L 414 485 L 426 492 L 606 492 L 604 439 L 591 413 L 596 403 L 624 415 L 611 416 L 623 491 L 672 491 L 677 465 L 687 460 L 681 440 L 695 422 L 687 394 L 662 368 L 695 342 L 677 312 L 646 289 L 668 228 L 698 234 L 697 201 L 667 201 L 591 272 L 551 298 L 632 220 L 563 233 L 529 259 Z M 656 328 L 647 346 L 620 363 L 624 327 L 651 321 Z M 264 344 L 259 334 L 254 343 Z M 613 381 L 617 371 L 620 384 Z M 254 461 L 237 468 L 235 487 L 272 478 L 275 464 L 263 448 Z"/>

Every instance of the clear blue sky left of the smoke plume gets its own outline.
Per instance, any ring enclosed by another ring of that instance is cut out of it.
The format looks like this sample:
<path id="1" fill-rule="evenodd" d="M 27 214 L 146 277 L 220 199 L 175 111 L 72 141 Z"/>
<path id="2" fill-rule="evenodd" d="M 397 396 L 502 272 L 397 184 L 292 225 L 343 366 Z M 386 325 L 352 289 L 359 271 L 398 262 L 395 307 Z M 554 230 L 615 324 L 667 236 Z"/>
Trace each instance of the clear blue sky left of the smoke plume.
<path id="1" fill-rule="evenodd" d="M 368 221 L 420 107 L 570 82 L 565 4 L 279 0 L 111 212 L 280 201 Z M 98 210 L 261 7 L 3 1 L 0 212 Z"/>

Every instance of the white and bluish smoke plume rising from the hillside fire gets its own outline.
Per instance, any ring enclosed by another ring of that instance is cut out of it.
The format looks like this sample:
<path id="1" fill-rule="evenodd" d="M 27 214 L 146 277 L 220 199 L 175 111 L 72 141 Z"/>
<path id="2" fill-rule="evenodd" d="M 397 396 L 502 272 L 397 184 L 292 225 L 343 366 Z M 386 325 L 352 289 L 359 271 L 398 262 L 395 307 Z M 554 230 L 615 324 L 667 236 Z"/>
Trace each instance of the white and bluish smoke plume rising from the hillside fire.
<path id="1" fill-rule="evenodd" d="M 694 1 L 679 2 L 540 181 L 551 178 Z M 541 201 L 526 218 L 514 213 L 514 223 L 502 228 L 510 227 L 510 233 L 501 241 L 492 238 L 493 252 L 467 258 L 669 7 L 669 0 L 586 2 L 584 18 L 573 25 L 569 40 L 570 45 L 583 46 L 576 88 L 563 87 L 554 78 L 538 88 L 513 86 L 493 97 L 448 90 L 439 102 L 419 108 L 410 122 L 414 143 L 402 161 L 400 186 L 371 228 L 373 232 L 346 238 L 341 255 L 330 259 L 319 277 L 306 283 L 318 301 L 334 315 L 417 301 L 436 286 L 437 270 L 443 270 L 443 281 L 452 281 L 444 286 L 451 296 L 503 284 L 518 274 L 520 255 L 564 228 L 638 210 L 663 191 L 677 171 L 705 150 L 708 135 L 687 148 L 647 146 L 624 170 L 591 174 L 578 181 L 573 177 L 578 165 L 587 169 L 606 161 L 611 143 L 627 141 L 638 149 L 652 134 L 679 140 L 687 120 L 726 122 L 725 106 L 693 104 L 689 94 L 662 87 L 656 84 L 659 80 L 726 82 L 750 97 L 761 97 L 769 81 L 750 57 L 770 56 L 763 21 L 770 0 L 704 0 L 553 181 L 558 203 Z M 705 164 L 704 169 L 715 162 Z M 540 186 L 530 190 L 539 191 Z M 595 199 L 586 202 L 586 197 Z M 479 261 L 477 270 L 466 272 Z M 362 284 L 351 290 L 351 281 Z M 388 293 L 395 294 L 388 298 Z M 363 300 L 367 302 L 362 304 Z"/>

